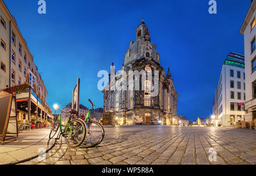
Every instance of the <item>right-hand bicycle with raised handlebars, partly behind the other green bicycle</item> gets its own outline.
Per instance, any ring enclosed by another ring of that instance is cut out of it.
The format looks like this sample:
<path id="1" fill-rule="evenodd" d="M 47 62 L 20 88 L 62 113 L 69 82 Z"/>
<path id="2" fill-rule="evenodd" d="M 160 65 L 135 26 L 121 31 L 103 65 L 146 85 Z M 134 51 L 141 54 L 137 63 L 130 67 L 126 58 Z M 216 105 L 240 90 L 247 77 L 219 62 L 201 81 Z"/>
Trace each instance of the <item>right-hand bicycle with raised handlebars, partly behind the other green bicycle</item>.
<path id="1" fill-rule="evenodd" d="M 92 104 L 92 109 L 88 111 L 86 118 L 84 118 L 83 116 L 80 116 L 80 118 L 84 121 L 84 124 L 86 127 L 85 140 L 81 144 L 81 146 L 85 148 L 93 147 L 100 144 L 105 136 L 105 131 L 102 125 L 97 121 L 93 121 L 90 118 L 90 111 L 94 111 L 93 107 L 95 107 L 95 105 L 90 99 L 88 100 Z"/>

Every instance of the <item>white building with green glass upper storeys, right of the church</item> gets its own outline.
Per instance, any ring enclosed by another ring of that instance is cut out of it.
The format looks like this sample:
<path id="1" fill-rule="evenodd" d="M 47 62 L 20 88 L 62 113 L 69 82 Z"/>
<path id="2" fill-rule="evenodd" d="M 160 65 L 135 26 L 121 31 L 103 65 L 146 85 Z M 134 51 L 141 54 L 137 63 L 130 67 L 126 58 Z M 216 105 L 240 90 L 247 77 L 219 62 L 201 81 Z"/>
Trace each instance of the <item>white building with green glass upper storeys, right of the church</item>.
<path id="1" fill-rule="evenodd" d="M 231 52 L 222 65 L 214 94 L 214 124 L 226 127 L 245 119 L 245 111 L 241 104 L 245 102 L 245 88 L 244 57 Z"/>

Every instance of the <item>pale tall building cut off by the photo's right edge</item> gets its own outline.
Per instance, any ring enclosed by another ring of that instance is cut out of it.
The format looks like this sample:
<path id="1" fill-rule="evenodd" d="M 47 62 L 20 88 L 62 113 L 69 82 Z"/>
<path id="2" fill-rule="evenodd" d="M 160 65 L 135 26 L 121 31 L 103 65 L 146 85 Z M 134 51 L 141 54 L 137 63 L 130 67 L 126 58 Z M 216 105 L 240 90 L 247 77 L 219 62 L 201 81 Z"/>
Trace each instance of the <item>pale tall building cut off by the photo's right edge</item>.
<path id="1" fill-rule="evenodd" d="M 243 21 L 240 33 L 244 35 L 245 45 L 245 80 L 246 80 L 246 101 L 245 121 L 256 120 L 256 57 L 255 57 L 255 12 L 256 2 L 251 1 L 251 6 L 245 20 Z"/>

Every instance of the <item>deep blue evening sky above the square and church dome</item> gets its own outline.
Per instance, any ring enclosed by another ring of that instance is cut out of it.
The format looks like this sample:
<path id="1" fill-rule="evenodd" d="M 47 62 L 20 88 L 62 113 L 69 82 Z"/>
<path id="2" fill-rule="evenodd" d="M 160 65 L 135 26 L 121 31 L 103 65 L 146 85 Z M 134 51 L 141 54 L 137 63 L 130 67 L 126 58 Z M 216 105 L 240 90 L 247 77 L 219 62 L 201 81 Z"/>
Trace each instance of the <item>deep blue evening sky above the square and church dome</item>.
<path id="1" fill-rule="evenodd" d="M 250 1 L 217 0 L 217 14 L 208 0 L 71 1 L 46 0 L 47 14 L 38 14 L 37 0 L 4 0 L 34 56 L 46 85 L 47 102 L 63 108 L 72 100 L 81 78 L 80 103 L 103 106 L 97 89 L 99 70 L 122 66 L 135 29 L 144 22 L 160 63 L 170 67 L 177 93 L 177 114 L 189 120 L 212 113 L 214 91 L 229 52 L 243 54 L 239 33 Z"/>

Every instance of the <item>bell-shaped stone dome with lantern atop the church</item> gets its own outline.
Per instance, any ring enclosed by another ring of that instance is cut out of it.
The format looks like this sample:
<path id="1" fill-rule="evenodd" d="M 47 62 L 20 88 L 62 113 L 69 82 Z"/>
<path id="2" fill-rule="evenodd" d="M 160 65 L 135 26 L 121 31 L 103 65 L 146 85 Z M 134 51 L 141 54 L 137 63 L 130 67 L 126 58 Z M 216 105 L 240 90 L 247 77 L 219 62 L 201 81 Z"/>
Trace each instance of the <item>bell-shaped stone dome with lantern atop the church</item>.
<path id="1" fill-rule="evenodd" d="M 135 30 L 136 40 L 130 42 L 130 47 L 125 54 L 123 66 L 144 58 L 146 60 L 154 60 L 160 64 L 159 54 L 156 51 L 156 45 L 150 43 L 150 31 L 142 20 Z"/>

